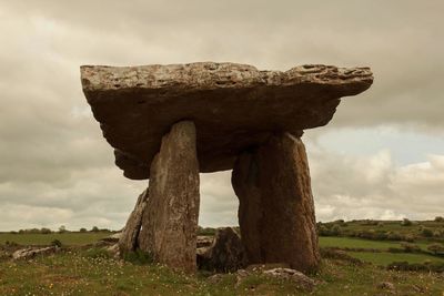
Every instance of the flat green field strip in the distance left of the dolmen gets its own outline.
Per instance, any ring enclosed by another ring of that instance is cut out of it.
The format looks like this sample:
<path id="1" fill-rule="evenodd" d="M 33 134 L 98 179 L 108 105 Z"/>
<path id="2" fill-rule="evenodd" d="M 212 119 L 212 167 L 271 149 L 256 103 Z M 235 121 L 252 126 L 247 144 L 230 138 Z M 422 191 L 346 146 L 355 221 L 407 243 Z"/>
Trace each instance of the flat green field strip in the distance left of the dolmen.
<path id="1" fill-rule="evenodd" d="M 59 239 L 62 245 L 79 246 L 98 242 L 110 233 L 51 233 L 51 234 L 0 234 L 0 245 L 14 242 L 19 245 L 49 245 Z"/>

